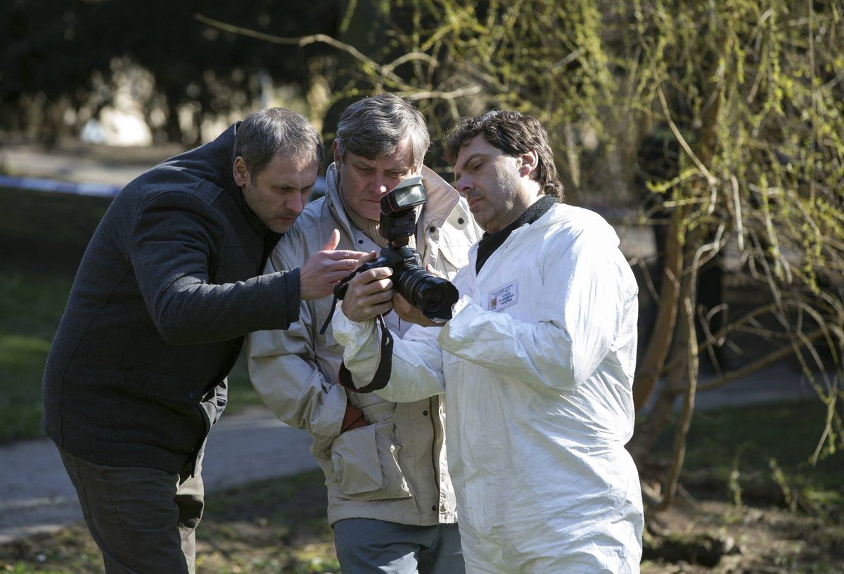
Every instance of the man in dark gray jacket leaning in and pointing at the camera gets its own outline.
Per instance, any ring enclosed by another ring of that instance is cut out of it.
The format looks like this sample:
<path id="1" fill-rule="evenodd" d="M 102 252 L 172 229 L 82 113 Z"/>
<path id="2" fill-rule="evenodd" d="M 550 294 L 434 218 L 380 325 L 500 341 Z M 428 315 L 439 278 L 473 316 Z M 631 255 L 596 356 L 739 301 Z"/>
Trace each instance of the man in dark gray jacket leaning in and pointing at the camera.
<path id="1" fill-rule="evenodd" d="M 354 270 L 332 237 L 301 268 L 261 275 L 317 179 L 305 116 L 257 111 L 120 192 L 79 266 L 44 374 L 46 434 L 106 572 L 194 571 L 203 447 L 246 333 Z"/>

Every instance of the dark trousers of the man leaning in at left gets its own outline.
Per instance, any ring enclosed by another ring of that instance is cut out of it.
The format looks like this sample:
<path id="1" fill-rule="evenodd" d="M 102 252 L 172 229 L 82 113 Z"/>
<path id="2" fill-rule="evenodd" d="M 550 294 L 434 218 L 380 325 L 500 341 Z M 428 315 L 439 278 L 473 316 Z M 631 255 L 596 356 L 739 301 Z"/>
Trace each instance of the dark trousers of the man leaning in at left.
<path id="1" fill-rule="evenodd" d="M 195 476 L 89 463 L 59 449 L 106 574 L 194 574 L 203 515 L 201 461 Z"/>

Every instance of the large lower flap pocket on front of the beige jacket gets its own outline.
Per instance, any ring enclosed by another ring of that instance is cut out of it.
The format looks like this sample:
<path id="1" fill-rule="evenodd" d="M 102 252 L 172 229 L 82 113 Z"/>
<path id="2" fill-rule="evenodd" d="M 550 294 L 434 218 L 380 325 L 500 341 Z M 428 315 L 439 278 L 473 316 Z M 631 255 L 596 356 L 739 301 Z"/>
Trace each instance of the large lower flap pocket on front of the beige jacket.
<path id="1" fill-rule="evenodd" d="M 334 440 L 329 482 L 338 496 L 356 501 L 410 498 L 398 466 L 398 446 L 390 438 L 392 420 L 349 430 Z"/>

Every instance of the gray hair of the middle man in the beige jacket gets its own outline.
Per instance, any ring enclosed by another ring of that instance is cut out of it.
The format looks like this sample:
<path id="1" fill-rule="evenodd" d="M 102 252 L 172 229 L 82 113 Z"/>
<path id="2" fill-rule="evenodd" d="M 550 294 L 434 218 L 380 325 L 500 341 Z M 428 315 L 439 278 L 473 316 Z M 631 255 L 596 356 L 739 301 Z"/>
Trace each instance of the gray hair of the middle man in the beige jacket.
<path id="1" fill-rule="evenodd" d="M 373 95 L 354 102 L 340 115 L 337 125 L 341 158 L 347 151 L 367 160 L 392 155 L 408 136 L 414 166 L 422 165 L 430 146 L 425 118 L 408 100 L 392 94 Z"/>

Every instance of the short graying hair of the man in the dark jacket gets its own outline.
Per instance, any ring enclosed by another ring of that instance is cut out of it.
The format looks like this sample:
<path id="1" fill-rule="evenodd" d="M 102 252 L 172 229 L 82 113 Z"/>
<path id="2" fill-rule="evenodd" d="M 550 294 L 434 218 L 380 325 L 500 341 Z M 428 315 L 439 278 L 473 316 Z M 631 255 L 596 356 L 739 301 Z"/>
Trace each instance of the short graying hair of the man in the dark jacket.
<path id="1" fill-rule="evenodd" d="M 297 111 L 273 107 L 253 111 L 237 127 L 235 157 L 240 155 L 255 177 L 275 154 L 322 163 L 322 140 L 308 118 Z"/>

